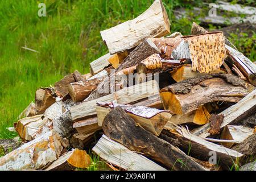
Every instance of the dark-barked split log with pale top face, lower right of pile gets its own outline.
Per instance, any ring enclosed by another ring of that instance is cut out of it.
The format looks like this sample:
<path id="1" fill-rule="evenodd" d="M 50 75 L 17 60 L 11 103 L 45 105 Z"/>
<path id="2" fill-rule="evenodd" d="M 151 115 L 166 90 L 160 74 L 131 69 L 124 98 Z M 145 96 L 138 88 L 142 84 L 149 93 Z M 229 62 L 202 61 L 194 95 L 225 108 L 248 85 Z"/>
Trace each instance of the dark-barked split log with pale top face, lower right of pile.
<path id="1" fill-rule="evenodd" d="M 209 161 L 210 156 L 212 156 L 210 152 L 216 152 L 216 164 L 218 162 L 225 169 L 232 167 L 234 164 L 240 165 L 243 159 L 243 154 L 240 152 L 192 135 L 183 127 L 171 131 L 163 130 L 163 134 L 175 139 L 177 141 L 174 143 L 177 144 L 176 147 L 179 147 L 184 152 L 189 152 L 189 155 L 197 159 Z"/>

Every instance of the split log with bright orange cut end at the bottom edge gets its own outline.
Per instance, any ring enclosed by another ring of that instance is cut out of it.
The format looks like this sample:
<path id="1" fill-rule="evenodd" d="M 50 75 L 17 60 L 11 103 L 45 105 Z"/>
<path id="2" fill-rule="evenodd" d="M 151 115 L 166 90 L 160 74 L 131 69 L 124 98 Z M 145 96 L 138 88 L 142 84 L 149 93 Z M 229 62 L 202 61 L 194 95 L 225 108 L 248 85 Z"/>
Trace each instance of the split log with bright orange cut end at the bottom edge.
<path id="1" fill-rule="evenodd" d="M 75 150 L 61 155 L 59 159 L 55 160 L 46 171 L 71 171 L 73 169 L 86 169 L 90 166 L 90 156 L 84 150 Z"/>

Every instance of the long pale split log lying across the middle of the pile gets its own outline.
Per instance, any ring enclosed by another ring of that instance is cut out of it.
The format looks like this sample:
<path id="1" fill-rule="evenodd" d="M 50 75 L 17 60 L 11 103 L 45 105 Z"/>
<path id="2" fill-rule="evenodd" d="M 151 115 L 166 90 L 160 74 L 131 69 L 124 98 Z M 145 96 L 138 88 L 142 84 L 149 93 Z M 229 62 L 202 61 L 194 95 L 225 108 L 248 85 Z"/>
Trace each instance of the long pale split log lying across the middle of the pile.
<path id="1" fill-rule="evenodd" d="M 136 93 L 136 94 L 135 94 Z M 82 102 L 79 105 L 72 106 L 70 108 L 73 121 L 79 121 L 85 117 L 89 117 L 96 114 L 97 102 L 112 102 L 117 100 L 118 104 L 129 104 L 143 98 L 155 96 L 158 93 L 158 84 L 155 80 L 143 82 L 119 90 L 118 92 L 109 94 L 104 97 L 100 97 L 97 100 L 88 102 Z"/>

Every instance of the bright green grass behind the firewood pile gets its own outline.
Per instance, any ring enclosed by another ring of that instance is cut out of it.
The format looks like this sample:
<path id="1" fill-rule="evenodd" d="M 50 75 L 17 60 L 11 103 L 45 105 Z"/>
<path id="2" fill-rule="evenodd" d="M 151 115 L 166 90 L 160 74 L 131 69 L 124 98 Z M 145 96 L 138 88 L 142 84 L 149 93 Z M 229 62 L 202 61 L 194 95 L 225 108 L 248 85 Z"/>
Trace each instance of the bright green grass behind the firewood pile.
<path id="1" fill-rule="evenodd" d="M 46 3 L 46 17 L 38 17 L 40 2 Z M 135 18 L 153 1 L 40 2 L 0 1 L 0 138 L 14 137 L 5 128 L 13 126 L 19 113 L 34 101 L 36 89 L 53 85 L 75 69 L 89 72 L 89 63 L 108 52 L 101 30 Z M 189 3 L 164 0 L 172 32 L 189 34 L 192 21 L 178 21 L 172 14 L 175 7 L 191 8 Z M 197 17 L 193 20 L 199 23 Z"/>

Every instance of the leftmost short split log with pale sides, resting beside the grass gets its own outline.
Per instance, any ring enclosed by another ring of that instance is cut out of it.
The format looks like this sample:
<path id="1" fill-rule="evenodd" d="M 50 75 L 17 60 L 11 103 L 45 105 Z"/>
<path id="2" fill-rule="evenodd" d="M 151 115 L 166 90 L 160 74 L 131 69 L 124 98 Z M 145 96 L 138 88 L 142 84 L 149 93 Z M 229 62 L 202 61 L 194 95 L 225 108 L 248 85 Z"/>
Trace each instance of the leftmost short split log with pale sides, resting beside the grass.
<path id="1" fill-rule="evenodd" d="M 24 140 L 32 140 L 32 136 L 36 131 L 44 126 L 45 121 L 42 119 L 43 115 L 34 115 L 32 117 L 26 117 L 19 119 L 15 130 L 19 134 L 19 137 Z"/>

